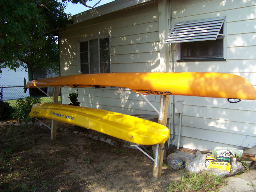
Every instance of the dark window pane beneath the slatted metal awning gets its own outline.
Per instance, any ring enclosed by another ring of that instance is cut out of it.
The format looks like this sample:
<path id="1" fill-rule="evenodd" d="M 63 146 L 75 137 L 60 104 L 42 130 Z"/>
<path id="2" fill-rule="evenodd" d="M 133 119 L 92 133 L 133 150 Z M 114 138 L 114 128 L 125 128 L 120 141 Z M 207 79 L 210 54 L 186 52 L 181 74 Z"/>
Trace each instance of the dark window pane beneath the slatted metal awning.
<path id="1" fill-rule="evenodd" d="M 223 39 L 180 44 L 181 59 L 223 58 Z"/>

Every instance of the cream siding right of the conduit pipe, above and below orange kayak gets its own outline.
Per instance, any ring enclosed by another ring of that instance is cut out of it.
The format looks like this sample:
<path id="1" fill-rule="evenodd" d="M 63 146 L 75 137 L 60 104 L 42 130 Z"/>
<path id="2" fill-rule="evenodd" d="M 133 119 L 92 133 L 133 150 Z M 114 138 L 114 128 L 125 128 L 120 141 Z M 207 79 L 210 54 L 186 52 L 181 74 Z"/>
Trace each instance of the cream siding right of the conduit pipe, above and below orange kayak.
<path id="1" fill-rule="evenodd" d="M 174 71 L 232 73 L 256 87 L 255 10 L 252 1 L 172 1 L 172 25 L 227 16 L 227 61 L 176 62 L 177 50 L 173 44 Z M 231 104 L 226 99 L 175 96 L 175 101 L 178 100 L 184 101 L 181 146 L 204 150 L 256 144 L 255 100 Z M 175 116 L 177 134 L 179 119 Z"/>

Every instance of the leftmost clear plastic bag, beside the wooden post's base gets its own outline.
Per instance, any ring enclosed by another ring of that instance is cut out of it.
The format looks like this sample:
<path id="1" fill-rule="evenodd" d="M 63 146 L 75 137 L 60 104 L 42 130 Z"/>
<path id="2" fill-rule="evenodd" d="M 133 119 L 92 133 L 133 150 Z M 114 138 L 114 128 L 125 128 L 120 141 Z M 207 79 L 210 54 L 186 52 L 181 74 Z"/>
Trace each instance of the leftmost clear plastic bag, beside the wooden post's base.
<path id="1" fill-rule="evenodd" d="M 185 164 L 188 160 L 192 160 L 195 158 L 195 155 L 183 152 L 183 151 L 175 151 L 174 153 L 171 153 L 167 157 L 167 163 L 170 165 L 173 169 L 183 169 L 185 167 Z"/>

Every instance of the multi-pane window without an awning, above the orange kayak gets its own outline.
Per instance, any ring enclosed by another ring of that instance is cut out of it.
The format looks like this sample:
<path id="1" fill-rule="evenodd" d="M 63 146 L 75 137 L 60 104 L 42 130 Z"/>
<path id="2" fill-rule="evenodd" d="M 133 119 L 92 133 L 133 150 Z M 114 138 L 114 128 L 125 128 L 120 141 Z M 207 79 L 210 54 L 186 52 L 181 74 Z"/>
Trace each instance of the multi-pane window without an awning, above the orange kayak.
<path id="1" fill-rule="evenodd" d="M 80 40 L 78 73 L 110 73 L 109 37 Z"/>

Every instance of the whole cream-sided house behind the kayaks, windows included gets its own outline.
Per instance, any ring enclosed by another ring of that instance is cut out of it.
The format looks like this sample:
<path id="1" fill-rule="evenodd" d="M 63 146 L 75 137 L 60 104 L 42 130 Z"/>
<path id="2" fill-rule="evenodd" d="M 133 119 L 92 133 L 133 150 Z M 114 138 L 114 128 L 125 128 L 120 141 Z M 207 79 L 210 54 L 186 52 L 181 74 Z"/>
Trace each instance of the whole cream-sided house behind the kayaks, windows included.
<path id="1" fill-rule="evenodd" d="M 250 0 L 116 0 L 73 16 L 74 24 L 59 30 L 60 75 L 226 72 L 243 76 L 255 86 L 255 10 L 255 1 Z M 189 26 L 200 28 L 199 23 L 203 29 L 195 39 L 196 32 Z M 219 25 L 217 32 L 212 24 Z M 164 44 L 171 29 L 179 25 L 188 25 L 186 32 L 192 38 L 178 33 L 179 40 L 173 40 L 171 33 L 171 44 Z M 81 106 L 128 115 L 156 114 L 140 95 L 129 89 L 116 90 L 62 88 L 62 102 L 68 104 L 68 93 L 78 92 Z M 159 107 L 159 96 L 147 98 Z M 178 134 L 179 116 L 173 115 L 173 97 L 170 99 L 167 125 L 172 133 L 175 117 Z M 174 103 L 177 101 L 183 103 L 181 147 L 208 150 L 256 144 L 255 100 L 231 104 L 226 99 L 175 96 Z"/>

